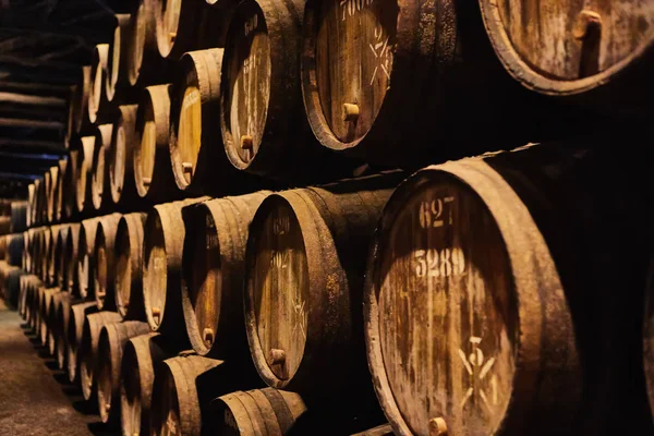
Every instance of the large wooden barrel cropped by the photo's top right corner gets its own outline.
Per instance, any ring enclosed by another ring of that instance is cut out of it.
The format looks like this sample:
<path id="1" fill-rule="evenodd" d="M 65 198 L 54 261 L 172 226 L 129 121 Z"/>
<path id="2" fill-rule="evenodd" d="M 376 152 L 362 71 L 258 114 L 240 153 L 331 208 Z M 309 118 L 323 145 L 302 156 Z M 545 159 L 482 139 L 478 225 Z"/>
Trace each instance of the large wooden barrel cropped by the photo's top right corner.
<path id="1" fill-rule="evenodd" d="M 495 52 L 529 89 L 561 97 L 595 93 L 613 112 L 630 102 L 647 105 L 654 65 L 651 4 L 565 2 L 547 7 L 547 13 L 508 1 L 480 0 L 480 5 Z"/>

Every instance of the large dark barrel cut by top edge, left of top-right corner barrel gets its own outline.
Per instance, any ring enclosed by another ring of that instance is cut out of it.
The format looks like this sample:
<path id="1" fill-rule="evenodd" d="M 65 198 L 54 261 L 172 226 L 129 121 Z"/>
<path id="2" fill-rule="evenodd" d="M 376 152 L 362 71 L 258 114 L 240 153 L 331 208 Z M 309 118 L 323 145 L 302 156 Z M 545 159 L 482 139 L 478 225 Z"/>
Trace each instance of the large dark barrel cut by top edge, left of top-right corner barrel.
<path id="1" fill-rule="evenodd" d="M 509 102 L 526 93 L 508 78 L 476 4 L 306 2 L 302 93 L 311 128 L 328 148 L 395 168 L 469 156 L 481 145 L 476 137 L 485 141 L 476 152 L 495 135 L 502 146 L 514 143 L 522 120 L 510 131 L 497 125 L 524 112 Z"/>

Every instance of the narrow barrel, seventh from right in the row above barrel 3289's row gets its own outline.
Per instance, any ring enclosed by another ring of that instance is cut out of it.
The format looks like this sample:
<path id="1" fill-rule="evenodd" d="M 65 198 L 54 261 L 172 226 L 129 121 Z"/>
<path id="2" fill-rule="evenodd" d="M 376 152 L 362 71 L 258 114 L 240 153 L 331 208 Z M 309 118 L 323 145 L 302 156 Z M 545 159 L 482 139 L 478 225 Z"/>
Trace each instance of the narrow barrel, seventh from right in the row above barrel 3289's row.
<path id="1" fill-rule="evenodd" d="M 111 204 L 109 192 L 109 171 L 107 169 L 108 154 L 111 148 L 113 124 L 98 125 L 95 131 L 95 145 L 93 152 L 93 177 L 90 181 L 90 199 L 93 208 L 98 211 L 108 208 Z"/>

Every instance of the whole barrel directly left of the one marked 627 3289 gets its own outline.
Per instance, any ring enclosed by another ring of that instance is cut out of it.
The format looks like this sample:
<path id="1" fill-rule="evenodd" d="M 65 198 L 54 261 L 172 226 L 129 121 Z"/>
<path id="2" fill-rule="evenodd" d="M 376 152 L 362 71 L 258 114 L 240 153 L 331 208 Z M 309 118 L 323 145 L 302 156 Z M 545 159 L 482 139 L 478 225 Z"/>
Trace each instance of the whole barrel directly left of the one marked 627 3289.
<path id="1" fill-rule="evenodd" d="M 398 182 L 396 174 L 372 177 L 262 203 L 245 254 L 244 311 L 250 351 L 268 386 L 353 399 L 370 384 L 362 316 L 351 307 L 361 301 L 388 186 Z"/>

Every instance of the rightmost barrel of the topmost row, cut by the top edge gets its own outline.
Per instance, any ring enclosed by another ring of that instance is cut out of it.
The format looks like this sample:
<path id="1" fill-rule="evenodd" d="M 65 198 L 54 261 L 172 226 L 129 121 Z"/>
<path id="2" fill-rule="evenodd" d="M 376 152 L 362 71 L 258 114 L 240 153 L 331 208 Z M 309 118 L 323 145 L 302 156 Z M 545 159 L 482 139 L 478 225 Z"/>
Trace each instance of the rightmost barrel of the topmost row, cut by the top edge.
<path id="1" fill-rule="evenodd" d="M 228 7 L 214 9 L 196 0 L 162 0 L 155 5 L 160 56 L 177 61 L 190 50 L 223 47 L 230 16 Z"/>

